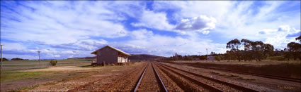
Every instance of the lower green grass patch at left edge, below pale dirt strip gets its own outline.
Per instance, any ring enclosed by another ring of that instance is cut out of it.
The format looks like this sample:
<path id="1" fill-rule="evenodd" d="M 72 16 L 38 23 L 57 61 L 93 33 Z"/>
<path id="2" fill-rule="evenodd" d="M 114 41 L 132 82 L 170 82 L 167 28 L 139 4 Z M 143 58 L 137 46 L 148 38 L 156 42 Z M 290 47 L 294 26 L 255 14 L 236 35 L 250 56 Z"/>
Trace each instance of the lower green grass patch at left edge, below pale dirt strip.
<path id="1" fill-rule="evenodd" d="M 17 72 L 17 70 L 2 70 L 1 81 L 15 81 L 19 79 L 35 79 L 50 72 Z"/>

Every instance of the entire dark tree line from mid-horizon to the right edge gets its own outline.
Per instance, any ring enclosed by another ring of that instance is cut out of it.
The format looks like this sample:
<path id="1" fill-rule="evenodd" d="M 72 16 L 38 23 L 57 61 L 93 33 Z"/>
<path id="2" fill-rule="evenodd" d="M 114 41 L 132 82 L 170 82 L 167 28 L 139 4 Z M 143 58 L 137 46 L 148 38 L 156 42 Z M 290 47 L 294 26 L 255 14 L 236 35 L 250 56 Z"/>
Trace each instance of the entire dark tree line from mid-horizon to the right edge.
<path id="1" fill-rule="evenodd" d="M 295 40 L 300 41 L 301 36 L 295 38 Z M 271 44 L 265 44 L 262 41 L 251 41 L 249 39 L 232 39 L 227 42 L 226 53 L 215 53 L 211 52 L 210 55 L 215 56 L 215 60 L 239 60 L 242 61 L 261 61 L 268 56 L 283 56 L 284 59 L 290 60 L 301 60 L 301 44 L 296 42 L 290 42 L 287 44 L 286 48 L 283 50 L 275 49 Z M 178 55 L 175 54 L 166 60 L 207 60 L 208 55 Z M 284 60 L 278 59 L 278 60 Z"/>

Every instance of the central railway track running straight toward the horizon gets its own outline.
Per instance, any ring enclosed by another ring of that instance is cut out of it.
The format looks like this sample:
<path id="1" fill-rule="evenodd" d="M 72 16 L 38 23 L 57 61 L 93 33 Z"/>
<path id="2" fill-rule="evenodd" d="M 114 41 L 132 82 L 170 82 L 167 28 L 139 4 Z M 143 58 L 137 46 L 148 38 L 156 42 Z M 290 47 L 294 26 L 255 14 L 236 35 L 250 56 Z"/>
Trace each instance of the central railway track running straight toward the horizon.
<path id="1" fill-rule="evenodd" d="M 166 91 L 167 89 L 161 80 L 157 70 L 154 68 L 153 64 L 150 63 L 145 67 L 144 72 L 141 74 L 137 85 L 135 86 L 135 91 Z"/>

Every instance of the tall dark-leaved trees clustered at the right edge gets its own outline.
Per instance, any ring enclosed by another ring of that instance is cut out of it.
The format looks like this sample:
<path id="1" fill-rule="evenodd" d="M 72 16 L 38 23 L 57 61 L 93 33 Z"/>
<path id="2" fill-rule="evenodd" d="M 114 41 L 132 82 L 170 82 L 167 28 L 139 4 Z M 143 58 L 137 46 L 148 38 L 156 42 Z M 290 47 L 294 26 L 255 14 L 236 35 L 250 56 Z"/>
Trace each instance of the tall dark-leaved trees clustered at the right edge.
<path id="1" fill-rule="evenodd" d="M 295 38 L 295 40 L 300 41 L 301 36 Z M 262 41 L 251 41 L 249 39 L 233 39 L 227 42 L 226 48 L 230 49 L 223 56 L 225 60 L 244 60 L 244 61 L 261 61 L 266 59 L 268 56 L 284 55 L 284 58 L 290 60 L 301 60 L 301 44 L 296 42 L 290 42 L 283 50 L 279 51 L 271 44 L 265 44 Z"/>

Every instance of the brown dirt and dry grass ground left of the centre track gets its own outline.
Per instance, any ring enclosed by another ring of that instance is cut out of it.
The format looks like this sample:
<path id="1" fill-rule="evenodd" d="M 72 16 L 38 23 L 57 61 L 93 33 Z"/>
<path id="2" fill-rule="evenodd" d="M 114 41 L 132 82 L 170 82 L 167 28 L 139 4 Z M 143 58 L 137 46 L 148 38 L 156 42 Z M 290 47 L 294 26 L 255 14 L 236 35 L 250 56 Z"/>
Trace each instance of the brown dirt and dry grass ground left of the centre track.
<path id="1" fill-rule="evenodd" d="M 19 70 L 18 72 L 50 72 L 32 79 L 1 82 L 2 91 L 68 91 L 98 79 L 116 76 L 125 70 L 141 65 L 79 67 L 63 66 L 45 69 Z"/>

